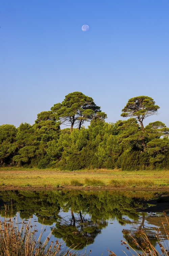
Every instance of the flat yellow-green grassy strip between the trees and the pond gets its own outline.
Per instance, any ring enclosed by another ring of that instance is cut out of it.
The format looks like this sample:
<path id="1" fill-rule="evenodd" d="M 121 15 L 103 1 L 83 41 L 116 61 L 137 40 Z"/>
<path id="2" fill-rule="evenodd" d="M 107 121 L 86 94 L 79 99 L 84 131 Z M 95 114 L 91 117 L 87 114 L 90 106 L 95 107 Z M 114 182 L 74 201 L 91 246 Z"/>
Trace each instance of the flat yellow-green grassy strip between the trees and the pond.
<path id="1" fill-rule="evenodd" d="M 0 189 L 130 188 L 169 190 L 169 170 L 120 171 L 0 169 Z"/>

